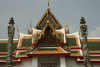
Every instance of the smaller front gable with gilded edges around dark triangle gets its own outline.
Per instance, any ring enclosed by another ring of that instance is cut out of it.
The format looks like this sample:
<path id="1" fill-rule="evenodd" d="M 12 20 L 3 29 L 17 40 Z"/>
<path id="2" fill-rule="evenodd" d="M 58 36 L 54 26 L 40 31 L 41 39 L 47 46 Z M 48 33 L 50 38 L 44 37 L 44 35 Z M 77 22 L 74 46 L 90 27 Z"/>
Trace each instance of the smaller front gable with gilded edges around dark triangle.
<path id="1" fill-rule="evenodd" d="M 37 43 L 38 46 L 60 46 L 60 42 L 56 37 L 56 31 L 49 20 L 47 20 L 46 25 L 38 36 L 38 39 L 36 40 L 35 38 L 33 41 L 34 43 Z"/>

